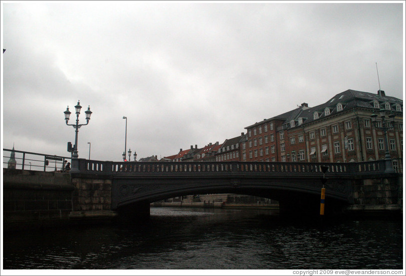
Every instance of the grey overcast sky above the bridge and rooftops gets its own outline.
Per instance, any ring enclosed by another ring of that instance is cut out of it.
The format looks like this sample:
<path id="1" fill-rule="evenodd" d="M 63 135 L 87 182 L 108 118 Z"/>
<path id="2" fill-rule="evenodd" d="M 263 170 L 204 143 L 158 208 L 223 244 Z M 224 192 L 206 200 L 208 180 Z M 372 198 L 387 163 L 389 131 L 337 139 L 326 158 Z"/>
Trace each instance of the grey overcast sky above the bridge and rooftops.
<path id="1" fill-rule="evenodd" d="M 79 158 L 176 154 L 347 89 L 403 99 L 404 1 L 7 2 L 2 146 Z M 7 154 L 8 155 L 8 154 Z M 132 159 L 132 157 L 131 157 Z"/>

